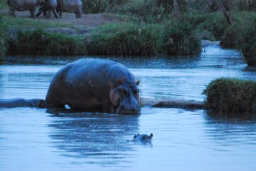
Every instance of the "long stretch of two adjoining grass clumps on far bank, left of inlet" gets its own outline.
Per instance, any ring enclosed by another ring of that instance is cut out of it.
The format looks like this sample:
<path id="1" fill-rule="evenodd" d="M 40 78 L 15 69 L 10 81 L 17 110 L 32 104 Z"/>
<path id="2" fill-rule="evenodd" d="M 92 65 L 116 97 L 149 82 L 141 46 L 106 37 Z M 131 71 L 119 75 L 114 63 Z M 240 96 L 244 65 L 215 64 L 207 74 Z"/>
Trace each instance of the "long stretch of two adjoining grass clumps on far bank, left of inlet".
<path id="1" fill-rule="evenodd" d="M 89 54 L 148 56 L 154 54 L 196 54 L 200 37 L 191 24 L 110 24 L 90 36 Z"/>

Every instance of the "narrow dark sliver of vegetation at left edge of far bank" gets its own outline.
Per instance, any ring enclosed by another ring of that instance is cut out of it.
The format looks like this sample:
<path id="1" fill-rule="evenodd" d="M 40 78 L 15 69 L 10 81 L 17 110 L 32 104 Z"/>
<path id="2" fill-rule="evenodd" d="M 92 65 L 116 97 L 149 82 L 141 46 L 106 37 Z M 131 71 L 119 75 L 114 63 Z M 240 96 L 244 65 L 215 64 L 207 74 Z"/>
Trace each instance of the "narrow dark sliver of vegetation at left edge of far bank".
<path id="1" fill-rule="evenodd" d="M 0 57 L 4 56 L 8 48 L 8 29 L 0 15 Z"/>

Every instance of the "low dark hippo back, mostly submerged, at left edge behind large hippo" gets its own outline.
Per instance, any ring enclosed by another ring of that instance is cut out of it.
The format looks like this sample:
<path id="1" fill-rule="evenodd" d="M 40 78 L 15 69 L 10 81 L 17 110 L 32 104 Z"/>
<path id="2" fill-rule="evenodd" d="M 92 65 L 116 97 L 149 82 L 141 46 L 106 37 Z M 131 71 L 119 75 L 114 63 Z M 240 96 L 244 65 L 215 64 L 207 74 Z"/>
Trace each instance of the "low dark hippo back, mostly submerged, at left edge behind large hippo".
<path id="1" fill-rule="evenodd" d="M 13 107 L 42 107 L 44 100 L 41 99 L 23 99 L 14 98 L 8 100 L 0 100 L 0 108 L 13 108 Z"/>

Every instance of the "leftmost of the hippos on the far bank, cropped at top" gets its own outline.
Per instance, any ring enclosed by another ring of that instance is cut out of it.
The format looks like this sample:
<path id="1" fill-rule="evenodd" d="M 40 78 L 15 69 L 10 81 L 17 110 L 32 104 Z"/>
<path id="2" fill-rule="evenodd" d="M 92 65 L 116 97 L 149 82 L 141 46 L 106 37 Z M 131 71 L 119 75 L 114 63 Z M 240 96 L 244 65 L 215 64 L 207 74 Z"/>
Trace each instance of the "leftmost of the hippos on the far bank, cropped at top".
<path id="1" fill-rule="evenodd" d="M 45 3 L 45 0 L 8 0 L 7 4 L 10 6 L 10 15 L 15 17 L 15 10 L 30 11 L 31 17 L 35 18 L 36 6 L 40 3 Z"/>

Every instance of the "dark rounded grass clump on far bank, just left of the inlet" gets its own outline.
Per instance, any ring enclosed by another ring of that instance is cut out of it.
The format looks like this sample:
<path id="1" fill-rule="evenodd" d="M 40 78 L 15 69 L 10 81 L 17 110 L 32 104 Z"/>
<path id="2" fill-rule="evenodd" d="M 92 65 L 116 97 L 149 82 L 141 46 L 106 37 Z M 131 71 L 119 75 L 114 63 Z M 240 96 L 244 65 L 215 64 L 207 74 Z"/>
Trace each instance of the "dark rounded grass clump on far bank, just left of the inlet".
<path id="1" fill-rule="evenodd" d="M 189 23 L 166 24 L 164 47 L 167 54 L 196 54 L 201 51 L 198 31 Z"/>

